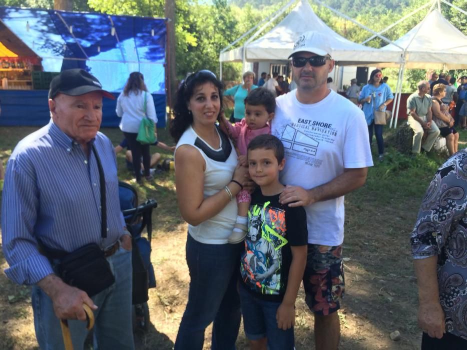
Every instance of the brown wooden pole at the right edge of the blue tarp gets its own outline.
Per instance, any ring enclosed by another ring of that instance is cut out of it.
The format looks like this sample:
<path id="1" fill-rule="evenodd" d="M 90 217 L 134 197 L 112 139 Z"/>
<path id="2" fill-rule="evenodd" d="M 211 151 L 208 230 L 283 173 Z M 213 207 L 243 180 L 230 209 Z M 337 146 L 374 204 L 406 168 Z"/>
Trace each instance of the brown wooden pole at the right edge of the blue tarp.
<path id="1" fill-rule="evenodd" d="M 167 18 L 166 74 L 168 103 L 172 110 L 172 97 L 177 87 L 177 72 L 175 66 L 175 0 L 165 0 L 165 16 Z"/>

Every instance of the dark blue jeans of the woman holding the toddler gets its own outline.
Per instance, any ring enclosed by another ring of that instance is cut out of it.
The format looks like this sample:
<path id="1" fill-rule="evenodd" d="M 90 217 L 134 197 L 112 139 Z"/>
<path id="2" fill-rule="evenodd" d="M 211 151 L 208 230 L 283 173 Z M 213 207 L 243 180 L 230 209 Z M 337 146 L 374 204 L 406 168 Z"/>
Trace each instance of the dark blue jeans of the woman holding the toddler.
<path id="1" fill-rule="evenodd" d="M 201 350 L 204 330 L 213 321 L 211 349 L 235 350 L 241 319 L 237 280 L 242 246 L 205 244 L 188 234 L 190 291 L 175 350 Z"/>

